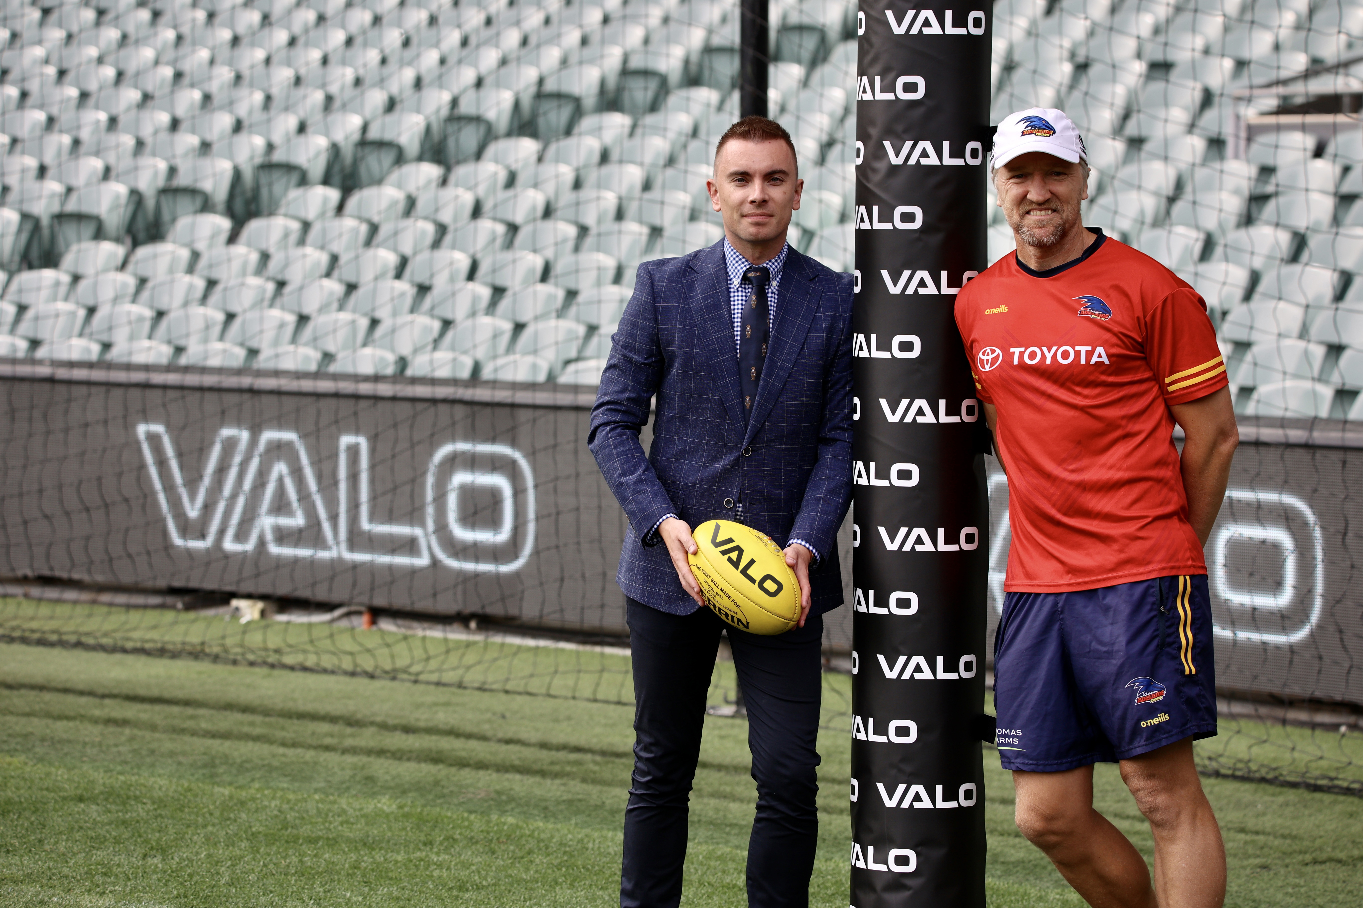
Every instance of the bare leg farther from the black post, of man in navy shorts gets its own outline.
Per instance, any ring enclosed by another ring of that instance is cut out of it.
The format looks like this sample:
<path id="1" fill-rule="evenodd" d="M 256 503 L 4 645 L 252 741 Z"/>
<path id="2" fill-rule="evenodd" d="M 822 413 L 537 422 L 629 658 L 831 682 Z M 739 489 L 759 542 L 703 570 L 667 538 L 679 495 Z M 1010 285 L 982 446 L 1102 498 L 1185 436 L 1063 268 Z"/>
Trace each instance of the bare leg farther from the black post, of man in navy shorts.
<path id="1" fill-rule="evenodd" d="M 1220 908 L 1225 901 L 1225 845 L 1193 765 L 1193 739 L 1123 760 L 1122 781 L 1150 821 L 1160 907 Z"/>

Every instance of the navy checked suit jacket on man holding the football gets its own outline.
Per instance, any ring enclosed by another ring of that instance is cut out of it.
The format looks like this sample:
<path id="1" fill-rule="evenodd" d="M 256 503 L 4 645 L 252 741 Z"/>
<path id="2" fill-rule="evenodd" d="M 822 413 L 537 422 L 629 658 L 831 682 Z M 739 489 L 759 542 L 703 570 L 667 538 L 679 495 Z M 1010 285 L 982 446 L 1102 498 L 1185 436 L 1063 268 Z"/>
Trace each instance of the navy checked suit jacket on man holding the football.
<path id="1" fill-rule="evenodd" d="M 645 456 L 639 432 L 654 398 Z M 667 513 L 692 527 L 733 520 L 729 498 L 778 546 L 799 536 L 818 549 L 811 614 L 842 604 L 837 532 L 852 497 L 852 275 L 791 249 L 744 422 L 724 241 L 643 263 L 612 338 L 587 445 L 630 519 L 616 573 L 630 598 L 672 614 L 695 611 L 667 546 L 645 536 Z"/>

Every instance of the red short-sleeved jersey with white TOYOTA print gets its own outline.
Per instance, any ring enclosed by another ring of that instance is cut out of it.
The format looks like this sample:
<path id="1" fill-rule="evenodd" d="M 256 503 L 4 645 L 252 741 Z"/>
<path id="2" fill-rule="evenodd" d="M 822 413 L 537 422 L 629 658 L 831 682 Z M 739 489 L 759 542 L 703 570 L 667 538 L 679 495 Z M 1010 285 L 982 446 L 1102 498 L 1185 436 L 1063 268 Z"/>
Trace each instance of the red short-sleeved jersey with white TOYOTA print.
<path id="1" fill-rule="evenodd" d="M 999 259 L 955 298 L 1009 475 L 1010 592 L 1206 573 L 1168 404 L 1227 385 L 1206 304 L 1101 236 L 1045 272 Z"/>

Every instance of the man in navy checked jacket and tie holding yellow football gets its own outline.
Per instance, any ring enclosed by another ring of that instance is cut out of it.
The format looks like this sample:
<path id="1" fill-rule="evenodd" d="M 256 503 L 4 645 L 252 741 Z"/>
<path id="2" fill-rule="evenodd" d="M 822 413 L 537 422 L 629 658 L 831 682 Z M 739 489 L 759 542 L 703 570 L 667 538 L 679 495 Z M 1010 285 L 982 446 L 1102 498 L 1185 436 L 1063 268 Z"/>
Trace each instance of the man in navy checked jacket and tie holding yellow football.
<path id="1" fill-rule="evenodd" d="M 786 244 L 801 184 L 778 124 L 746 117 L 724 133 L 709 181 L 724 240 L 639 265 L 592 411 L 592 453 L 631 528 L 616 574 L 637 702 L 623 908 L 682 898 L 687 800 L 726 629 L 702 609 L 687 554 L 691 527 L 716 517 L 785 545 L 800 581 L 797 628 L 728 636 L 758 785 L 748 904 L 808 905 L 822 614 L 842 603 L 837 532 L 852 494 L 852 278 Z"/>

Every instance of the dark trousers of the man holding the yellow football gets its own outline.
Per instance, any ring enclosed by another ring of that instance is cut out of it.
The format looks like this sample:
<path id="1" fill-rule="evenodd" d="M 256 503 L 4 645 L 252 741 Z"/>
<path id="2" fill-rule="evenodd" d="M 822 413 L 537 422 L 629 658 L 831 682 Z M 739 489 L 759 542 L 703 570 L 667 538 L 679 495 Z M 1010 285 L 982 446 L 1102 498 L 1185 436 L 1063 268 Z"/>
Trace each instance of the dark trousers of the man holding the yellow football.
<path id="1" fill-rule="evenodd" d="M 672 615 L 626 599 L 634 662 L 634 776 L 624 811 L 622 908 L 682 900 L 687 802 L 720 633 L 709 609 Z M 819 818 L 815 750 L 822 692 L 822 617 L 776 637 L 728 628 L 748 711 L 756 817 L 748 841 L 748 905 L 806 908 Z"/>

